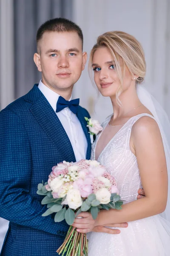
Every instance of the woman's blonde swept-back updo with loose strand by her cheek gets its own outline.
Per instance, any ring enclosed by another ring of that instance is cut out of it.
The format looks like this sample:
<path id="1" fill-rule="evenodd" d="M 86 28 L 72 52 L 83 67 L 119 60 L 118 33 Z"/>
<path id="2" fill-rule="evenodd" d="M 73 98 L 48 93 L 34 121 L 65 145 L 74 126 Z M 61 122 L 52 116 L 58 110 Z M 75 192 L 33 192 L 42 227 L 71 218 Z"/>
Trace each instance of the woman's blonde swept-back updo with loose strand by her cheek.
<path id="1" fill-rule="evenodd" d="M 91 73 L 93 56 L 100 47 L 106 47 L 112 55 L 116 72 L 120 81 L 120 86 L 116 92 L 116 99 L 119 105 L 119 96 L 123 90 L 123 80 L 125 77 L 125 67 L 128 68 L 132 76 L 136 76 L 136 84 L 144 80 L 146 73 L 146 62 L 141 44 L 132 35 L 122 31 L 111 31 L 100 35 L 97 43 L 91 50 L 88 69 Z"/>

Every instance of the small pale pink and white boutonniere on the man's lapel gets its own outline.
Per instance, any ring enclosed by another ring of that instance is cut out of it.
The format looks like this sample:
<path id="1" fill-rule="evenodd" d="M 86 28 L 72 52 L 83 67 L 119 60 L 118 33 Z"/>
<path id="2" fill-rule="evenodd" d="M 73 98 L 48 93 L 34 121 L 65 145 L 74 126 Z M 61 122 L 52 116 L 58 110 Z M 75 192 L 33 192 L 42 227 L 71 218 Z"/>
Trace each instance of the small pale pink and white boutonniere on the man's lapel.
<path id="1" fill-rule="evenodd" d="M 85 121 L 87 121 L 87 123 L 88 123 L 88 125 L 87 125 L 87 127 L 89 128 L 88 133 L 90 134 L 91 144 L 93 144 L 93 142 L 94 142 L 93 136 L 97 135 L 99 133 L 99 131 L 103 130 L 103 128 L 100 125 L 98 120 L 94 120 L 92 118 L 85 117 Z"/>

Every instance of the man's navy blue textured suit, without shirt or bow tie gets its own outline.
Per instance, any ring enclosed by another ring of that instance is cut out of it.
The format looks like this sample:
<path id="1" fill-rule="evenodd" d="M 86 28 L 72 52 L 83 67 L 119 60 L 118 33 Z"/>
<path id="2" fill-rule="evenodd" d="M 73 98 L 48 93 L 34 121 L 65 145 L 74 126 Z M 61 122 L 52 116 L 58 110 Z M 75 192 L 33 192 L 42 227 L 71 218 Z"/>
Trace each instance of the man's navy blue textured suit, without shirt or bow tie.
<path id="1" fill-rule="evenodd" d="M 0 217 L 10 221 L 0 256 L 57 255 L 68 231 L 65 221 L 55 223 L 54 216 L 41 216 L 46 206 L 36 193 L 52 166 L 75 161 L 70 140 L 37 85 L 0 112 Z M 88 112 L 79 106 L 77 117 L 90 159 L 85 116 Z"/>

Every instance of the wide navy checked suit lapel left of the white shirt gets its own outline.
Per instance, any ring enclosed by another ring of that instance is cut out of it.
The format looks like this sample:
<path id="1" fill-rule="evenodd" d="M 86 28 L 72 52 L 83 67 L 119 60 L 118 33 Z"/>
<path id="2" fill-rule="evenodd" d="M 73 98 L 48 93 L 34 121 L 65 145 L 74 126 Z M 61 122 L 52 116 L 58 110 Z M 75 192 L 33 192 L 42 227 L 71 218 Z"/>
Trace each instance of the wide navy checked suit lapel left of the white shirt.
<path id="1" fill-rule="evenodd" d="M 33 89 L 35 89 L 36 92 L 39 90 L 38 88 Z M 48 103 L 45 96 L 43 96 L 41 92 L 37 93 L 39 93 L 39 97 L 36 99 L 36 101 L 34 99 L 34 103 L 32 102 L 33 105 L 30 108 L 32 114 L 35 116 L 45 133 L 54 143 L 58 151 L 62 154 L 63 160 L 68 162 L 75 162 L 76 159 L 71 142 L 65 132 L 65 129 L 59 121 L 59 118 L 51 108 L 51 105 Z M 27 95 L 26 100 L 28 100 L 28 98 L 29 97 Z"/>

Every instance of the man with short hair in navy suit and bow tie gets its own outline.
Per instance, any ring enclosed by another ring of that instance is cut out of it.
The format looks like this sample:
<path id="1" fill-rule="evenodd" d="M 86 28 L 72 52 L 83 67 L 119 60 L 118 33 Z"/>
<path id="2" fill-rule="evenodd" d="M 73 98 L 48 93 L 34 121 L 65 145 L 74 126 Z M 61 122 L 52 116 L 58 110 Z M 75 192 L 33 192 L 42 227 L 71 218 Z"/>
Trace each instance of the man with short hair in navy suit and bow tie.
<path id="1" fill-rule="evenodd" d="M 82 44 L 82 30 L 72 21 L 56 18 L 42 24 L 34 54 L 42 80 L 0 112 L 0 217 L 10 221 L 1 256 L 56 256 L 68 231 L 65 221 L 41 216 L 46 206 L 36 192 L 52 166 L 91 156 L 84 118 L 89 113 L 71 99 L 87 60 Z"/>

